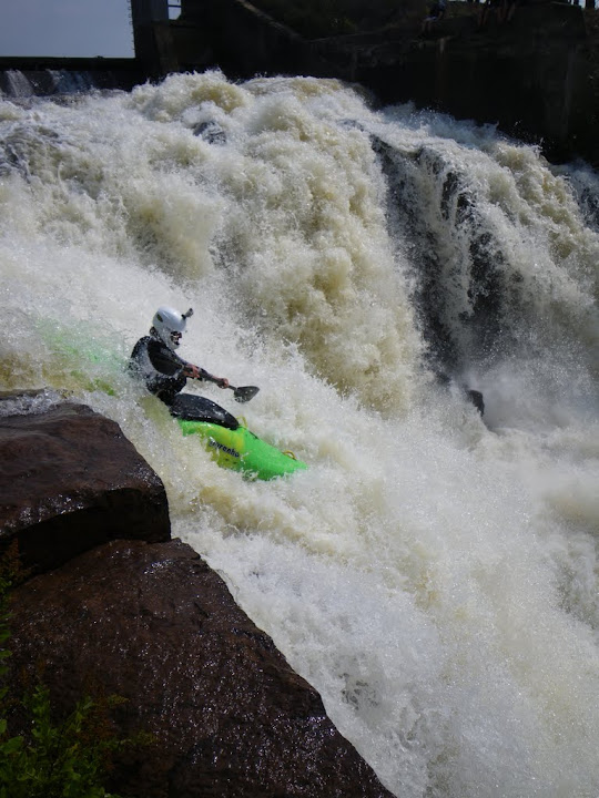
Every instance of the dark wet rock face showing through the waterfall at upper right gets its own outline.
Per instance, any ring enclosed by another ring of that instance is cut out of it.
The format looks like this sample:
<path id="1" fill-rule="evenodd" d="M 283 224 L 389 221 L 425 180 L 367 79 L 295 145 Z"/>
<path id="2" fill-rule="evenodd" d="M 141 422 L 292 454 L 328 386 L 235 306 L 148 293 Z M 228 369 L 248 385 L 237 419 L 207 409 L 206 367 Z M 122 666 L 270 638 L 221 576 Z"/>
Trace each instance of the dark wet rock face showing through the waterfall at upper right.
<path id="1" fill-rule="evenodd" d="M 370 141 L 387 180 L 388 226 L 407 243 L 413 264 L 412 301 L 429 366 L 459 372 L 509 335 L 504 297 L 515 298 L 502 277 L 501 244 L 476 205 L 468 175 L 443 150 L 406 153 L 378 136 Z"/>

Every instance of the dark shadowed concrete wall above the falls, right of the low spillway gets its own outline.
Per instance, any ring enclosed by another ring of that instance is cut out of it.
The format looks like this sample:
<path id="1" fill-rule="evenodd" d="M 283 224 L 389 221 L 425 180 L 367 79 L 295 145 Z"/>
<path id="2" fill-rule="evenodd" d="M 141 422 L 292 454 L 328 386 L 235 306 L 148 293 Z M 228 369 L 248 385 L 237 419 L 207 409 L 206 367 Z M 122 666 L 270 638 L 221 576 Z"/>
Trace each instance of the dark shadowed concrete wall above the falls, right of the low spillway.
<path id="1" fill-rule="evenodd" d="M 552 160 L 599 165 L 599 41 L 587 31 L 586 12 L 537 1 L 519 7 L 509 24 L 490 16 L 478 29 L 479 8 L 449 3 L 447 19 L 426 38 L 412 23 L 306 42 L 246 0 L 183 0 L 171 29 L 179 69 L 341 78 L 384 103 L 413 101 L 497 124 L 541 143 Z"/>

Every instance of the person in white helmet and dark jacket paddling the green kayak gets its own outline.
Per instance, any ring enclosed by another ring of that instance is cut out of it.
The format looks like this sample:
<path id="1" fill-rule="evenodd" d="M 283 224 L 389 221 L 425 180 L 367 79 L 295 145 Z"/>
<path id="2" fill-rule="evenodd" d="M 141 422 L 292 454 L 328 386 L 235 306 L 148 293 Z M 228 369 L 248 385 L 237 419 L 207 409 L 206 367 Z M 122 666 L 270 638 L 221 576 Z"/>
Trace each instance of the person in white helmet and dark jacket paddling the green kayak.
<path id="1" fill-rule="evenodd" d="M 183 406 L 187 410 L 185 399 L 195 399 L 180 395 L 187 379 L 206 380 L 215 382 L 219 388 L 229 388 L 226 377 L 214 377 L 176 355 L 175 349 L 192 315 L 192 308 L 180 314 L 171 307 L 160 307 L 152 319 L 150 335 L 140 338 L 129 360 L 130 370 L 145 381 L 149 391 L 171 408 L 173 416 L 182 416 Z"/>

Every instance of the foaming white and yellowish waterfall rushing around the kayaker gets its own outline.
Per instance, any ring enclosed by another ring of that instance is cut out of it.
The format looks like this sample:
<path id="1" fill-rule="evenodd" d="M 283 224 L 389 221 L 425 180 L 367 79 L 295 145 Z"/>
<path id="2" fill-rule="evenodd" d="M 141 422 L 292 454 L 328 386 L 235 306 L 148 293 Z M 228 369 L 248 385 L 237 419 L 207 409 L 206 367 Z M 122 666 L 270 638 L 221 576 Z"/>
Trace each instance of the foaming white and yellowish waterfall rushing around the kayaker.
<path id="1" fill-rule="evenodd" d="M 335 81 L 0 99 L 1 388 L 121 424 L 402 798 L 599 795 L 598 264 L 585 164 Z M 131 381 L 161 304 L 308 471 L 219 469 Z"/>

